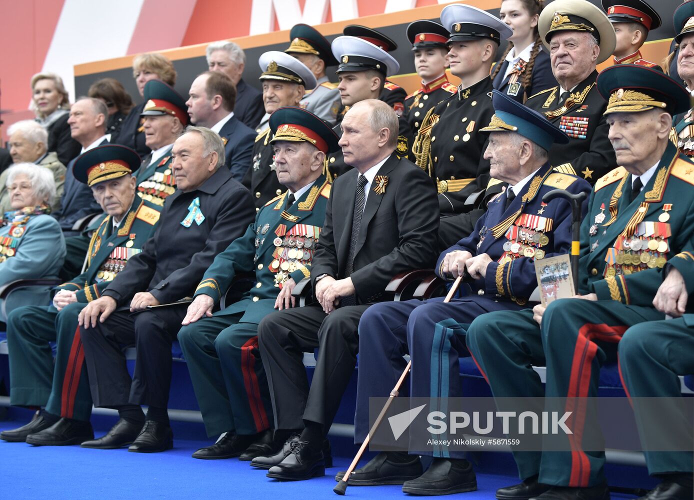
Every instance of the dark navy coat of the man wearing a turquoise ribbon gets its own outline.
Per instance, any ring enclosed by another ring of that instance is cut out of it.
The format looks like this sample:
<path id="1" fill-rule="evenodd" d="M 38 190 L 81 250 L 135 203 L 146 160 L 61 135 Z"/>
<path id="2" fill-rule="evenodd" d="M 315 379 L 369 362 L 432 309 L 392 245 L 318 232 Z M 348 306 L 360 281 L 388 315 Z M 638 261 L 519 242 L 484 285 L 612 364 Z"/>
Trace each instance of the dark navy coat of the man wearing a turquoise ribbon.
<path id="1" fill-rule="evenodd" d="M 181 222 L 196 198 L 205 219 L 185 227 Z M 144 291 L 161 303 L 192 297 L 214 256 L 243 235 L 254 218 L 251 194 L 231 178 L 228 169 L 218 169 L 197 190 L 179 190 L 167 197 L 154 236 L 103 294 L 119 306 Z"/>

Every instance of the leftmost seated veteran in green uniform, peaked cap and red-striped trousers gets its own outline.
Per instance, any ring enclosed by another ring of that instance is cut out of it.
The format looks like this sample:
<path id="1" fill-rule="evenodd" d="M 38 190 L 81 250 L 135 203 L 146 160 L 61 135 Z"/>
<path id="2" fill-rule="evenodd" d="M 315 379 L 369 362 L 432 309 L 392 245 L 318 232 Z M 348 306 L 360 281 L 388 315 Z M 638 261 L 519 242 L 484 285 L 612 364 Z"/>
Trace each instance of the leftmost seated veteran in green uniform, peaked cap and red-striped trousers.
<path id="1" fill-rule="evenodd" d="M 0 439 L 60 445 L 94 437 L 77 317 L 139 253 L 158 223 L 158 206 L 135 196 L 132 173 L 139 163 L 133 149 L 115 144 L 90 149 L 75 161 L 75 178 L 92 188 L 105 216 L 90 240 L 85 272 L 58 286 L 52 306 L 25 306 L 8 317 L 10 403 L 45 410 Z M 55 365 L 50 342 L 56 342 Z"/>

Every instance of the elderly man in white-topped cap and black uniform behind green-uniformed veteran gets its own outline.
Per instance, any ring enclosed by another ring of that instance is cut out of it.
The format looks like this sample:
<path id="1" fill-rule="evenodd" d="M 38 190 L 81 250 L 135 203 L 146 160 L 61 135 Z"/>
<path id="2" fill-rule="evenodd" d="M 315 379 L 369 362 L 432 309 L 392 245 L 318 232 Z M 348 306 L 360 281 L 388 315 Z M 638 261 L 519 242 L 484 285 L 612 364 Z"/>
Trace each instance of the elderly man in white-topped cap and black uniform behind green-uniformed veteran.
<path id="1" fill-rule="evenodd" d="M 256 212 L 285 190 L 277 179 L 274 151 L 270 144 L 269 117 L 278 108 L 298 106 L 305 91 L 316 87 L 316 77 L 311 70 L 284 52 L 265 52 L 258 59 L 258 64 L 262 71 L 258 79 L 262 83 L 265 117 L 253 145 L 253 163 L 242 181 L 253 195 Z"/>

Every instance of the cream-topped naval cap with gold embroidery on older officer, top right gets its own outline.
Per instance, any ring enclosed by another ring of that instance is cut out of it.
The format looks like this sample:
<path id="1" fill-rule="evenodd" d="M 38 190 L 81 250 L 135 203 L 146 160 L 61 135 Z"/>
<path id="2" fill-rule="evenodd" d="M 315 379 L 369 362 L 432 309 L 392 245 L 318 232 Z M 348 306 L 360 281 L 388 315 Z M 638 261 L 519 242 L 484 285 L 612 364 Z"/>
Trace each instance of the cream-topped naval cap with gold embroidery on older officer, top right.
<path id="1" fill-rule="evenodd" d="M 600 53 L 596 64 L 609 59 L 617 45 L 616 34 L 607 15 L 586 0 L 555 0 L 540 12 L 537 29 L 545 47 L 550 50 L 554 33 L 580 31 L 598 40 Z"/>

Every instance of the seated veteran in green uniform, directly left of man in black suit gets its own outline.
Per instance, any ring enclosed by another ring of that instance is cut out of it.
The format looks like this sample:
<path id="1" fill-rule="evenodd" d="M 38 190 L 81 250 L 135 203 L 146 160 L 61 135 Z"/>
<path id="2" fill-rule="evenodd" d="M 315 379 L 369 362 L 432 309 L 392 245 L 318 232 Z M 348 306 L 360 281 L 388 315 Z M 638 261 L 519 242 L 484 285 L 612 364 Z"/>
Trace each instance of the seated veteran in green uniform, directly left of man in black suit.
<path id="1" fill-rule="evenodd" d="M 273 440 L 257 324 L 273 309 L 294 306 L 291 291 L 310 274 L 330 197 L 323 160 L 339 146 L 330 125 L 301 108 L 278 109 L 270 128 L 278 177 L 288 190 L 266 203 L 246 233 L 214 259 L 178 332 L 208 435 L 226 433 L 194 458 L 252 460 L 276 453 L 289 437 Z M 255 273 L 253 287 L 212 315 L 242 272 Z"/>

